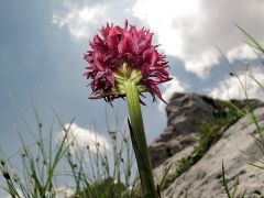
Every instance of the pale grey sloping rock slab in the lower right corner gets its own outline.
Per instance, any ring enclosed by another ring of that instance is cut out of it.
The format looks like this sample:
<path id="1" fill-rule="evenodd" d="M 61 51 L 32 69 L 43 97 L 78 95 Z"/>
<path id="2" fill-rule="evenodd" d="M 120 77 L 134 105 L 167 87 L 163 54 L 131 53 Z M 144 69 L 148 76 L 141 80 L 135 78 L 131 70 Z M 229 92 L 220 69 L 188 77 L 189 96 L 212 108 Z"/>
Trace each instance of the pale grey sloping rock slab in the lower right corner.
<path id="1" fill-rule="evenodd" d="M 258 108 L 254 112 L 261 127 L 264 127 L 264 108 Z M 251 136 L 252 133 L 256 135 L 255 125 L 246 117 L 240 119 L 197 164 L 165 189 L 164 197 L 184 197 L 186 190 L 191 198 L 227 197 L 222 187 L 222 161 L 230 184 L 234 184 L 239 177 L 238 197 L 241 197 L 245 189 L 246 197 L 253 194 L 260 196 L 263 193 L 264 170 L 250 165 L 251 161 L 244 154 L 264 160 L 263 153 Z"/>

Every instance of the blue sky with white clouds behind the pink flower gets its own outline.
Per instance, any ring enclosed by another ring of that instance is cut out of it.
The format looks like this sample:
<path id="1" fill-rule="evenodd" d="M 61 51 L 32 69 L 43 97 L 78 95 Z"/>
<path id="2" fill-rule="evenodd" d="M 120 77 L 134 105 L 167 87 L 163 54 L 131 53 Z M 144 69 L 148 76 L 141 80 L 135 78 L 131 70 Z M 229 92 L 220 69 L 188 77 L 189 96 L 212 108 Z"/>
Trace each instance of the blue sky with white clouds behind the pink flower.
<path id="1" fill-rule="evenodd" d="M 0 145 L 11 154 L 19 148 L 15 125 L 28 139 L 11 96 L 24 117 L 34 124 L 31 96 L 36 101 L 45 125 L 54 114 L 50 102 L 68 123 L 89 133 L 94 123 L 106 130 L 106 109 L 113 123 L 113 111 L 120 122 L 128 117 L 123 101 L 114 108 L 102 100 L 88 100 L 89 84 L 82 78 L 86 63 L 82 55 L 88 42 L 106 22 L 123 25 L 128 19 L 155 33 L 154 42 L 167 54 L 174 80 L 161 86 L 166 99 L 172 92 L 198 92 L 215 98 L 241 98 L 235 80 L 217 45 L 231 64 L 243 68 L 245 59 L 255 62 L 255 54 L 235 28 L 240 24 L 258 40 L 264 40 L 263 0 L 1 0 L 0 1 Z M 261 70 L 253 70 L 263 79 Z M 260 90 L 251 85 L 252 97 Z M 164 106 L 146 99 L 143 107 L 148 142 L 166 125 Z M 47 127 L 46 127 L 47 128 Z M 80 135 L 81 136 L 81 135 Z"/>

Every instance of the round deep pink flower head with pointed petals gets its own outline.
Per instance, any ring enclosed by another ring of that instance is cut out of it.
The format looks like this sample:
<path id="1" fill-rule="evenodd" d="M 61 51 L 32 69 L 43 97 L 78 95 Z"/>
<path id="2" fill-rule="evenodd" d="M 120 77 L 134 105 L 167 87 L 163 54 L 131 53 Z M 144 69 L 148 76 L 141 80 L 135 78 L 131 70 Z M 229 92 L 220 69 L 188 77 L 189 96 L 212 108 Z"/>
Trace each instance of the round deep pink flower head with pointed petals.
<path id="1" fill-rule="evenodd" d="M 84 57 L 88 62 L 84 76 L 91 79 L 90 98 L 111 102 L 125 96 L 123 81 L 136 79 L 140 92 L 148 91 L 154 100 L 155 96 L 163 100 L 157 85 L 172 78 L 166 72 L 166 56 L 156 51 L 157 45 L 152 45 L 153 33 L 135 25 L 128 28 L 128 21 L 123 29 L 107 23 L 100 33 L 101 37 L 94 37 L 91 51 Z"/>

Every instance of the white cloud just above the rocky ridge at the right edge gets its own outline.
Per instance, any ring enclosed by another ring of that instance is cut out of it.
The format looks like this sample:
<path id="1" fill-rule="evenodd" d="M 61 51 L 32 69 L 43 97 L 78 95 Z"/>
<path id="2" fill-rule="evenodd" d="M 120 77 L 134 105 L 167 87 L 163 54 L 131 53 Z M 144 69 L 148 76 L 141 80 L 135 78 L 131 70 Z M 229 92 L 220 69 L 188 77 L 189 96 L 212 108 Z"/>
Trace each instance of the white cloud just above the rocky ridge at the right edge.
<path id="1" fill-rule="evenodd" d="M 264 73 L 260 69 L 252 70 L 251 73 L 240 73 L 239 79 L 241 80 L 249 98 L 256 98 L 264 100 L 263 89 L 250 77 L 252 75 L 262 84 L 264 82 Z M 212 98 L 219 98 L 223 100 L 230 99 L 245 99 L 245 92 L 240 84 L 239 79 L 234 76 L 230 76 L 226 80 L 221 81 L 218 87 L 209 91 L 209 96 Z"/>

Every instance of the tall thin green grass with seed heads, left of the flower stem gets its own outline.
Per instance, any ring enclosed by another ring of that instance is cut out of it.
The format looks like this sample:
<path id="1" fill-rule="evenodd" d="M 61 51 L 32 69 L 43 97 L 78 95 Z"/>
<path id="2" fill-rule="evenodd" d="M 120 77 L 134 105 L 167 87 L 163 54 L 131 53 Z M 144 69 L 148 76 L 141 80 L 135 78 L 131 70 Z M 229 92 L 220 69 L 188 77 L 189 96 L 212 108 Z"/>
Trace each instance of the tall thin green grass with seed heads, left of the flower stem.
<path id="1" fill-rule="evenodd" d="M 34 108 L 36 131 L 24 122 L 35 142 L 26 143 L 23 133 L 18 130 L 22 148 L 12 158 L 0 150 L 0 173 L 6 182 L 0 186 L 11 197 L 54 198 L 72 191 L 72 197 L 112 197 L 133 198 L 139 189 L 136 179 L 132 175 L 133 151 L 124 130 L 116 127 L 116 131 L 108 131 L 111 151 L 99 150 L 96 145 L 78 147 L 74 139 L 69 139 L 70 125 L 65 128 L 54 110 L 55 120 L 47 128 L 43 128 L 38 112 Z M 23 114 L 21 113 L 23 117 Z M 23 117 L 25 121 L 25 118 Z M 74 119 L 70 123 L 74 123 Z M 64 131 L 57 138 L 55 125 Z M 44 136 L 44 134 L 48 134 Z M 73 152 L 73 147 L 80 152 Z M 94 152 L 89 146 L 96 146 Z M 15 167 L 13 160 L 21 162 L 22 167 Z M 14 167 L 18 168 L 14 173 Z"/>

